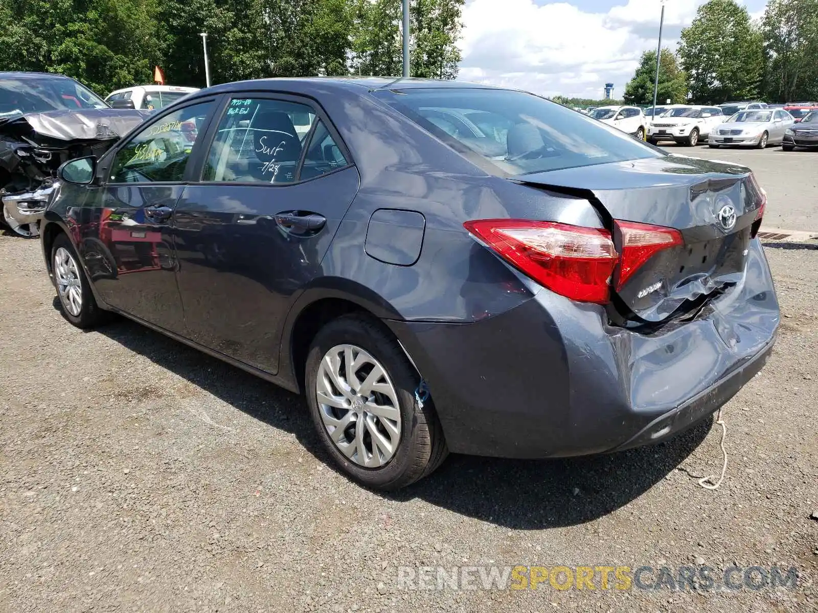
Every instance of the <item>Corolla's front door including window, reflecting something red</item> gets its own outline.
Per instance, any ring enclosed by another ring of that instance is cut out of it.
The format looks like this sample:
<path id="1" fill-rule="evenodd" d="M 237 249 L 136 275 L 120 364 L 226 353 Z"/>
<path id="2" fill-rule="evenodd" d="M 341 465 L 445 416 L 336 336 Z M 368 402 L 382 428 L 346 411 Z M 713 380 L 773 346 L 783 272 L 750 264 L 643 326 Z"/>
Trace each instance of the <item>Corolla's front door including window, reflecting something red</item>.
<path id="1" fill-rule="evenodd" d="M 173 210 L 185 186 L 187 162 L 213 101 L 157 118 L 101 163 L 94 222 L 80 244 L 92 281 L 111 307 L 171 332 L 183 333 L 175 279 Z"/>

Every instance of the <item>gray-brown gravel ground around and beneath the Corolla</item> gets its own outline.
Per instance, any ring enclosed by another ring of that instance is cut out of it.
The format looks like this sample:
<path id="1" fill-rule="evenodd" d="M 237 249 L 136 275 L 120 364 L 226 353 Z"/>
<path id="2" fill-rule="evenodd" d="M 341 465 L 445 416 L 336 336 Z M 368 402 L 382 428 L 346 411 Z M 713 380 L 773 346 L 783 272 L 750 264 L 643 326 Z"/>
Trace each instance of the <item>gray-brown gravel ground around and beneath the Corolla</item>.
<path id="1" fill-rule="evenodd" d="M 818 224 L 816 224 L 818 225 Z M 303 401 L 126 320 L 56 310 L 0 235 L 0 611 L 818 611 L 818 249 L 768 244 L 783 323 L 712 422 L 653 448 L 452 456 L 398 494 L 325 464 Z M 398 566 L 795 566 L 732 592 L 409 590 Z"/>

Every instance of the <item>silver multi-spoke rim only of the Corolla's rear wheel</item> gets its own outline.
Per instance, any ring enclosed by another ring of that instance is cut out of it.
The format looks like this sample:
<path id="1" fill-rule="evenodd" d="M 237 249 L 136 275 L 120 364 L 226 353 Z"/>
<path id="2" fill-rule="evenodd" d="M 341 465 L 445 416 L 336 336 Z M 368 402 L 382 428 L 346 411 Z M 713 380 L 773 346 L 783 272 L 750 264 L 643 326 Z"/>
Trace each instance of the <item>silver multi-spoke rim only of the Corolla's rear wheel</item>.
<path id="1" fill-rule="evenodd" d="M 401 437 L 398 392 L 368 351 L 336 345 L 321 359 L 316 380 L 321 421 L 335 447 L 366 468 L 389 463 Z"/>

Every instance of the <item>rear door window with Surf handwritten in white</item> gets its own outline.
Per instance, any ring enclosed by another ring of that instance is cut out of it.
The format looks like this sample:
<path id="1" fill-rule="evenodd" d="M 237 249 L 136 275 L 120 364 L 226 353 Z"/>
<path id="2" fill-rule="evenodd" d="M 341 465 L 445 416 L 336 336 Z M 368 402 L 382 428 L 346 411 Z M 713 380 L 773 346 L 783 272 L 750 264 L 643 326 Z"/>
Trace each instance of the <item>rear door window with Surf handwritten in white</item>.
<path id="1" fill-rule="evenodd" d="M 234 98 L 218 124 L 204 181 L 292 183 L 315 112 L 308 105 Z"/>

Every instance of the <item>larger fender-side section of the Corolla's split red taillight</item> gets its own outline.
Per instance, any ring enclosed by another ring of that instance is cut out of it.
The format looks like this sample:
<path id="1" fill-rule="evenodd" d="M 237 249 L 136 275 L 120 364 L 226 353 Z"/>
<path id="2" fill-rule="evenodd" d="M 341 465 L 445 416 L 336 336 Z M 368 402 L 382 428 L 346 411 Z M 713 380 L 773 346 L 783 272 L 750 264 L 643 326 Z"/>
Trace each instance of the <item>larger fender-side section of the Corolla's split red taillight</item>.
<path id="1" fill-rule="evenodd" d="M 608 302 L 618 262 L 608 230 L 520 219 L 481 219 L 463 226 L 546 288 L 572 300 Z"/>

